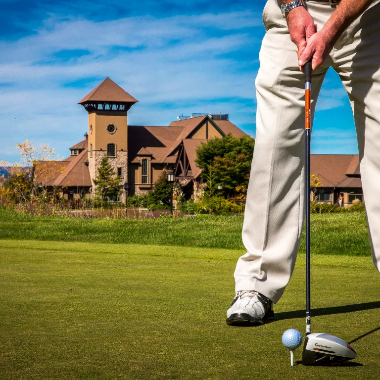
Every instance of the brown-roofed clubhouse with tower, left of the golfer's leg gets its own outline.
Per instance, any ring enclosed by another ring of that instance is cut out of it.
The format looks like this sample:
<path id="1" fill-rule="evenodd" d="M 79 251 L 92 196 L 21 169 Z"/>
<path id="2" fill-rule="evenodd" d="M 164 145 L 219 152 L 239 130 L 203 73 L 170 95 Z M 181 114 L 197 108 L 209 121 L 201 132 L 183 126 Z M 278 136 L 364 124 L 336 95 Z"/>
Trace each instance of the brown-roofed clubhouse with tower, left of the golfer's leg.
<path id="1" fill-rule="evenodd" d="M 128 125 L 128 111 L 137 102 L 106 78 L 79 102 L 89 115 L 84 140 L 70 146 L 63 161 L 38 161 L 37 181 L 58 187 L 66 199 L 92 197 L 101 159 L 108 157 L 115 175 L 128 183 L 130 195 L 152 190 L 162 170 L 173 168 L 190 196 L 194 184 L 201 182 L 196 148 L 214 137 L 245 135 L 222 114 L 193 115 L 168 126 Z"/>

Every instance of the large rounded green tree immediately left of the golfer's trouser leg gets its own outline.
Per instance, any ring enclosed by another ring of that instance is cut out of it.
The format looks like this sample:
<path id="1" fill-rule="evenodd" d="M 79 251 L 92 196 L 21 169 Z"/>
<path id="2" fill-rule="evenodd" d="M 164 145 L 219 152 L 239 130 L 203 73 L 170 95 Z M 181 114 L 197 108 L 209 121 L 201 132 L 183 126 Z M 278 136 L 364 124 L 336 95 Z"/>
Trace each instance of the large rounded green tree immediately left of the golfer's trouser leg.
<path id="1" fill-rule="evenodd" d="M 249 136 L 234 137 L 232 134 L 224 138 L 210 139 L 196 149 L 196 164 L 202 169 L 201 177 L 217 186 L 221 184 L 223 193 L 236 195 L 237 188 L 246 187 L 255 140 Z M 209 189 L 210 195 L 215 193 Z"/>

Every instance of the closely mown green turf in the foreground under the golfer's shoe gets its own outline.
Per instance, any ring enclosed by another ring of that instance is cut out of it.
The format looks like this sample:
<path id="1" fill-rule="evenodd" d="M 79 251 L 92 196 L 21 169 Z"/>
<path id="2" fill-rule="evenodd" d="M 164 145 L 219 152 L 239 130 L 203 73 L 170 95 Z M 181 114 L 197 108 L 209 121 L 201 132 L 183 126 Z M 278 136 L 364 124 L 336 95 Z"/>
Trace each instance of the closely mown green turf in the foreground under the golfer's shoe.
<path id="1" fill-rule="evenodd" d="M 371 258 L 313 255 L 312 331 L 352 343 L 344 367 L 289 365 L 304 335 L 304 256 L 277 319 L 225 324 L 241 250 L 0 240 L 0 379 L 379 379 Z M 301 358 L 301 349 L 295 360 Z"/>

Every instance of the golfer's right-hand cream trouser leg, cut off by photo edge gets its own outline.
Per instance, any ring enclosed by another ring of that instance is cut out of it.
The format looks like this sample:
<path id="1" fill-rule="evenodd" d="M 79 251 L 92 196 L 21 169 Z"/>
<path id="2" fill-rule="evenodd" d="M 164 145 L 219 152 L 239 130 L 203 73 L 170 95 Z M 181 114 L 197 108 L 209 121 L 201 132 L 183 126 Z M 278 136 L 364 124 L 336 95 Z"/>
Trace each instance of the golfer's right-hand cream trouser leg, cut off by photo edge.
<path id="1" fill-rule="evenodd" d="M 380 271 L 380 1 L 347 30 L 333 67 L 350 97 L 372 257 Z"/>

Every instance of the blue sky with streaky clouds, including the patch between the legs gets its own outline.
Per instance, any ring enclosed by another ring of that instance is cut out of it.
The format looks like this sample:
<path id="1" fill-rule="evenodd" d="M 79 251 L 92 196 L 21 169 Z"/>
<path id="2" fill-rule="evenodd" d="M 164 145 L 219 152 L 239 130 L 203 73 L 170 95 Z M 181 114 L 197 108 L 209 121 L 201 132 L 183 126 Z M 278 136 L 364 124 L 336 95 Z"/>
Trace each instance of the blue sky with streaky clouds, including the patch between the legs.
<path id="1" fill-rule="evenodd" d="M 264 3 L 0 0 L 0 160 L 18 161 L 14 145 L 25 139 L 67 156 L 87 131 L 77 102 L 107 76 L 139 100 L 129 124 L 222 112 L 254 137 Z M 332 71 L 312 152 L 357 153 L 347 95 Z"/>

